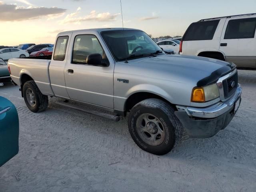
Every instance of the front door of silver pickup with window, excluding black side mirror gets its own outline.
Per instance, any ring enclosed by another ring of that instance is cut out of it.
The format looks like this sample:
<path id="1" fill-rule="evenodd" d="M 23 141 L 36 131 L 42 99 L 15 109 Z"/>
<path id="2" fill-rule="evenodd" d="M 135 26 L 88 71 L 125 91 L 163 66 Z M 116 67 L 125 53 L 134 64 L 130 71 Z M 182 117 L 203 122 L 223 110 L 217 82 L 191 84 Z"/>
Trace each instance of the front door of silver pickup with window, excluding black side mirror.
<path id="1" fill-rule="evenodd" d="M 70 46 L 70 58 L 66 63 L 64 75 L 66 89 L 71 99 L 114 108 L 114 60 L 107 50 L 101 38 L 97 34 L 81 34 L 73 32 L 73 46 Z M 108 60 L 108 67 L 91 66 L 86 63 L 86 58 L 90 54 L 101 54 L 104 60 Z"/>

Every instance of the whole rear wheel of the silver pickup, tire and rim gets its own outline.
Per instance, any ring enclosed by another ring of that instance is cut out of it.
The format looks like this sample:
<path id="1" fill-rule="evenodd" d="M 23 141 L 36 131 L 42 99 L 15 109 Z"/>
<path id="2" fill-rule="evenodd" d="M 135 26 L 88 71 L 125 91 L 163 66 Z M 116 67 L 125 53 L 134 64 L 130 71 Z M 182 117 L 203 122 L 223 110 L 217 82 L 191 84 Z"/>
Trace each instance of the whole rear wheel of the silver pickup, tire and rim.
<path id="1" fill-rule="evenodd" d="M 46 110 L 48 96 L 43 95 L 34 81 L 27 81 L 23 86 L 24 101 L 30 111 L 37 113 Z"/>

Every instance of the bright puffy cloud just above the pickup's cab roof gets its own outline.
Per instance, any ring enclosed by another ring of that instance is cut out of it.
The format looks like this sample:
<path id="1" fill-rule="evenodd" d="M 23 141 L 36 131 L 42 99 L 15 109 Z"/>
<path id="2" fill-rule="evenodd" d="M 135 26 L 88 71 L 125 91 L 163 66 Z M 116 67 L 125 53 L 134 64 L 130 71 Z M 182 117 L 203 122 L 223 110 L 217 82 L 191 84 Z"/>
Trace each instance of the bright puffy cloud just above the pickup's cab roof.
<path id="1" fill-rule="evenodd" d="M 78 7 L 76 12 L 68 14 L 62 21 L 61 24 L 74 23 L 80 24 L 84 21 L 99 21 L 99 22 L 109 22 L 115 21 L 116 17 L 120 15 L 120 13 L 110 14 L 109 12 L 98 13 L 95 10 L 91 11 L 90 14 L 86 16 L 78 16 L 80 14 L 81 8 Z"/>

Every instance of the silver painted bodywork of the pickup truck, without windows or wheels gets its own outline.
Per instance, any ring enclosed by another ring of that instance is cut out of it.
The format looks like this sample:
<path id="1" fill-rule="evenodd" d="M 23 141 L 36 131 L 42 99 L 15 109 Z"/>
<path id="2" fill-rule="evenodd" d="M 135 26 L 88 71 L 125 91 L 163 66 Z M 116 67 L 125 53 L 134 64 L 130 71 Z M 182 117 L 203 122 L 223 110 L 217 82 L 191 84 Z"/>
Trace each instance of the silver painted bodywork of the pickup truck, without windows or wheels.
<path id="1" fill-rule="evenodd" d="M 58 34 L 57 38 L 69 36 L 64 61 L 9 60 L 12 80 L 20 86 L 21 75 L 28 74 L 43 94 L 119 111 L 124 111 L 127 98 L 137 92 L 153 93 L 180 106 L 206 107 L 220 101 L 220 98 L 216 98 L 206 103 L 192 103 L 190 99 L 197 82 L 226 65 L 226 62 L 167 54 L 129 60 L 128 63 L 116 62 L 100 35 L 103 30 L 113 29 L 77 30 Z M 94 34 L 110 66 L 72 64 L 74 38 L 78 34 Z M 68 69 L 74 70 L 74 73 L 68 74 Z M 128 83 L 118 79 L 128 80 Z"/>

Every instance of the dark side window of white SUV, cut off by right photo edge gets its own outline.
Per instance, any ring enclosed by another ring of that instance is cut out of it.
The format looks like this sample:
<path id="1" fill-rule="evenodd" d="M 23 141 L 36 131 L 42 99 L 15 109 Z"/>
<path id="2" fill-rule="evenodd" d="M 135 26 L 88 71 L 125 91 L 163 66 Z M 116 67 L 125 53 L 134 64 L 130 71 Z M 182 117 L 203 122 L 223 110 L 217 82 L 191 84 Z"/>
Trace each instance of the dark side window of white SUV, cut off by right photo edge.
<path id="1" fill-rule="evenodd" d="M 256 18 L 230 20 L 224 39 L 254 38 L 255 28 Z"/>

